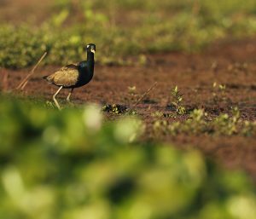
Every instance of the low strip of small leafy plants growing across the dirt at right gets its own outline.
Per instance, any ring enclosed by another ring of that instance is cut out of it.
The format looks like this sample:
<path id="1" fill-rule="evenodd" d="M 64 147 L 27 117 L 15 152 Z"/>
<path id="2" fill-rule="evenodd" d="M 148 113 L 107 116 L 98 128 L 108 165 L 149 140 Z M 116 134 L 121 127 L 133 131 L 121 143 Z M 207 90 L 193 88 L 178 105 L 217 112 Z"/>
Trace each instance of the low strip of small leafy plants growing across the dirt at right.
<path id="1" fill-rule="evenodd" d="M 189 118 L 183 122 L 168 123 L 158 119 L 154 122 L 156 133 L 177 135 L 256 135 L 255 122 L 242 121 L 237 107 L 232 109 L 232 115 L 222 113 L 215 118 L 209 118 L 201 109 L 190 112 Z"/>

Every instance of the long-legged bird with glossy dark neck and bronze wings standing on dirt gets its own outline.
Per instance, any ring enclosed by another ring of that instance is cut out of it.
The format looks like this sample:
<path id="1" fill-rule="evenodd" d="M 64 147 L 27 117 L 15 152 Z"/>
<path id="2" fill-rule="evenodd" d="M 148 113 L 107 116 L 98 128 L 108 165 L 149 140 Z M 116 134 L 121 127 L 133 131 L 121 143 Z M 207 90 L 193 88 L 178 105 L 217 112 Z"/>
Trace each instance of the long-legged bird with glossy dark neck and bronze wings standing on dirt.
<path id="1" fill-rule="evenodd" d="M 43 77 L 49 84 L 54 84 L 59 87 L 53 95 L 53 100 L 59 110 L 61 110 L 61 107 L 56 100 L 56 97 L 61 89 L 70 89 L 67 95 L 67 102 L 70 102 L 70 96 L 73 94 L 73 89 L 88 84 L 93 78 L 96 45 L 94 43 L 89 43 L 86 45 L 85 50 L 87 52 L 87 61 L 80 61 L 76 64 L 63 66 L 56 72 Z"/>

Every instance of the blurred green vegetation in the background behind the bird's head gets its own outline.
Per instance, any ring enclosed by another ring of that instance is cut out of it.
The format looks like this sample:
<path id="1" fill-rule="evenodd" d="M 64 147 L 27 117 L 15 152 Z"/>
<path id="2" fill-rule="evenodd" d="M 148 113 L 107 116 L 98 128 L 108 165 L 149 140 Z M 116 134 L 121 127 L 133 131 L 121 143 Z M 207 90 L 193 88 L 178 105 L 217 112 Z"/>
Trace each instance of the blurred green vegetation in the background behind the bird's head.
<path id="1" fill-rule="evenodd" d="M 78 4 L 79 3 L 79 4 Z M 55 1 L 39 26 L 0 25 L 0 66 L 30 66 L 84 59 L 94 42 L 102 64 L 144 64 L 148 52 L 195 51 L 224 37 L 255 34 L 255 1 Z M 133 62 L 131 62 L 133 61 Z"/>

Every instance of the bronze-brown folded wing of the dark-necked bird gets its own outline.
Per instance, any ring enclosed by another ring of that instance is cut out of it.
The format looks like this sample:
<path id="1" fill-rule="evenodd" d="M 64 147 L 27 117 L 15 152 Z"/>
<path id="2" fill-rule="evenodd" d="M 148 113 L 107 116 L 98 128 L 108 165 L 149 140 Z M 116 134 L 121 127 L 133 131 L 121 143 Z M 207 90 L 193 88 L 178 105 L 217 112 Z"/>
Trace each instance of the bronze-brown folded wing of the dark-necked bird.
<path id="1" fill-rule="evenodd" d="M 79 66 L 76 65 L 68 65 L 61 67 L 57 72 L 49 75 L 47 78 L 49 83 L 70 87 L 77 83 L 79 79 Z"/>

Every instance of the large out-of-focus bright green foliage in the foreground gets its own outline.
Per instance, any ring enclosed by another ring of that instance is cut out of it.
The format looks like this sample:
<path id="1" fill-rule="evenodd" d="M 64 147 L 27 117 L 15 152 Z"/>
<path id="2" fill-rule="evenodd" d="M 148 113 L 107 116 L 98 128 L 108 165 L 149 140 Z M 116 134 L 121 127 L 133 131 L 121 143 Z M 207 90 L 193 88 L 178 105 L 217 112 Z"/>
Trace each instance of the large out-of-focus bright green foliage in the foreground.
<path id="1" fill-rule="evenodd" d="M 244 174 L 196 151 L 140 145 L 141 122 L 103 123 L 100 111 L 1 97 L 1 218 L 254 218 Z"/>

